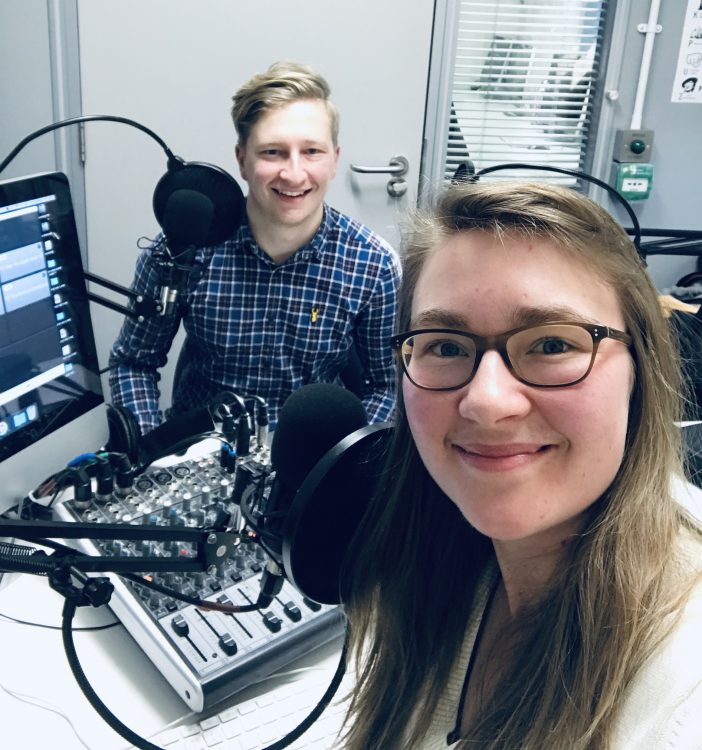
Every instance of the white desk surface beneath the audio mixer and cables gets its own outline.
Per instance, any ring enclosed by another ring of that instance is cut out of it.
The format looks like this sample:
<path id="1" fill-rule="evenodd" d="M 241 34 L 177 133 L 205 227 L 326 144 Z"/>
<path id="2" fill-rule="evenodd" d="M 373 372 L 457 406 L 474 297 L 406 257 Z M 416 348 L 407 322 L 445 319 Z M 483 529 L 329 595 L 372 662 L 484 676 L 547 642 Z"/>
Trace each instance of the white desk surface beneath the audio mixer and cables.
<path id="1" fill-rule="evenodd" d="M 90 750 L 123 750 L 129 744 L 95 712 L 73 678 L 60 631 L 63 603 L 64 599 L 50 588 L 44 577 L 5 574 L 0 584 L 0 614 L 59 629 L 20 625 L 0 618 L 0 685 L 59 708 L 71 718 Z M 114 621 L 106 607 L 80 607 L 74 629 Z M 98 696 L 140 736 L 148 739 L 170 722 L 191 715 L 121 625 L 97 632 L 74 632 L 74 641 L 85 675 Z M 285 671 L 314 666 L 328 670 L 331 679 L 339 651 L 337 640 L 303 657 Z M 294 679 L 304 681 L 305 675 Z M 271 678 L 247 688 L 229 703 L 261 695 L 281 681 L 282 678 Z M 63 718 L 20 702 L 2 689 L 0 717 L 3 747 L 84 750 Z"/>

